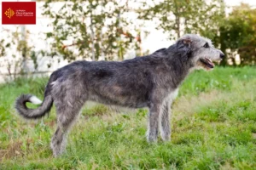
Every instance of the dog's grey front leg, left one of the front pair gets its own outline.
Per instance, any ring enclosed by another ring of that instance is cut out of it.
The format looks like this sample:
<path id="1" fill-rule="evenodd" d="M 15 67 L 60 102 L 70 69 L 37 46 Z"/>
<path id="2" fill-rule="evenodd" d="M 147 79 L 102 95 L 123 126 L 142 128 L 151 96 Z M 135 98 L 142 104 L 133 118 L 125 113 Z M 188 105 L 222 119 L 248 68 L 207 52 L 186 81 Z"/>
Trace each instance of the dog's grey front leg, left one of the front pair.
<path id="1" fill-rule="evenodd" d="M 161 105 L 152 104 L 149 107 L 148 116 L 148 142 L 156 142 L 158 136 L 159 118 Z"/>

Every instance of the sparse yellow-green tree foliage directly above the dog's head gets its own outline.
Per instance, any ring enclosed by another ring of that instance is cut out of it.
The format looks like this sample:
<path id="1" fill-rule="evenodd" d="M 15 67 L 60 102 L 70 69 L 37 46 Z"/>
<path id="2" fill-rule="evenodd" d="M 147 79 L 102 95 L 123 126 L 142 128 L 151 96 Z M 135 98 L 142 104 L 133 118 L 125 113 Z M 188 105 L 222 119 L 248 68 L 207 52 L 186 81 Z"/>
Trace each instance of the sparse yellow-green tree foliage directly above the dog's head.
<path id="1" fill-rule="evenodd" d="M 157 29 L 166 31 L 171 39 L 184 33 L 200 33 L 213 38 L 224 18 L 223 0 L 164 0 L 141 11 L 141 18 L 160 20 Z"/>

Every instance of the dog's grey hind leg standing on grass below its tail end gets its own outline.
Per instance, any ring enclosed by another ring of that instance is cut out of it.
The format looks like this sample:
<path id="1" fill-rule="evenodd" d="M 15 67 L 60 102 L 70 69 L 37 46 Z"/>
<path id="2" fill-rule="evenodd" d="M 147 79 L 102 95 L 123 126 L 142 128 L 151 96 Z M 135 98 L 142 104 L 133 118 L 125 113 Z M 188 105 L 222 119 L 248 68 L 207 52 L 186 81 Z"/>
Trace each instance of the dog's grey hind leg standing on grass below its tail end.
<path id="1" fill-rule="evenodd" d="M 58 105 L 57 111 L 57 129 L 51 139 L 51 149 L 54 156 L 59 156 L 66 149 L 67 133 L 73 122 L 79 116 L 79 111 L 83 104 L 78 102 L 75 105 Z"/>

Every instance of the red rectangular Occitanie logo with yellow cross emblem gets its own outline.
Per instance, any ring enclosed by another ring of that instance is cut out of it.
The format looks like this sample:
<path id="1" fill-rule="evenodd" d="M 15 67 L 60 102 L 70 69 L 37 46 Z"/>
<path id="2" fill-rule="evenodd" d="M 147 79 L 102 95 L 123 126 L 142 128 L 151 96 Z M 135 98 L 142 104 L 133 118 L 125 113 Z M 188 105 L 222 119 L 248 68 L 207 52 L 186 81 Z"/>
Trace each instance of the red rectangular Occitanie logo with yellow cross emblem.
<path id="1" fill-rule="evenodd" d="M 2 24 L 36 24 L 36 2 L 2 2 Z"/>

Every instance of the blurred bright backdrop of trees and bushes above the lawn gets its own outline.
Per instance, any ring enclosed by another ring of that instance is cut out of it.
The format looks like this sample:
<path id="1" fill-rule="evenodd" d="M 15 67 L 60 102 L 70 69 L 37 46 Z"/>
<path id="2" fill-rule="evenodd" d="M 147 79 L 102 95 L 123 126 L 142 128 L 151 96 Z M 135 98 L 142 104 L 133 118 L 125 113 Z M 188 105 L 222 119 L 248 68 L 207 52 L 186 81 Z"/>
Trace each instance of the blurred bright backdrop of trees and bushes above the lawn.
<path id="1" fill-rule="evenodd" d="M 227 56 L 220 65 L 255 65 L 255 8 L 250 0 L 38 1 L 37 25 L 0 26 L 0 82 L 77 59 L 131 59 L 185 33 L 212 39 Z"/>

